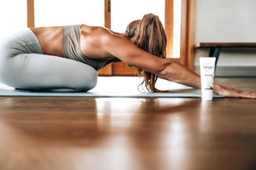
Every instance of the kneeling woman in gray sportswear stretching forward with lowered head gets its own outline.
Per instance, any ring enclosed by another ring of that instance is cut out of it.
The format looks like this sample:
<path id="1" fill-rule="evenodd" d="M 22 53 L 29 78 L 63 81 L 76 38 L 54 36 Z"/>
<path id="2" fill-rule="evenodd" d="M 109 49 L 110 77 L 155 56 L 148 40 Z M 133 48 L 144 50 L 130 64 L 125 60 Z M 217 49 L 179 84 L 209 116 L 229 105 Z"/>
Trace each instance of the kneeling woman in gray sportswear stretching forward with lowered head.
<path id="1" fill-rule="evenodd" d="M 1 46 L 0 80 L 15 88 L 73 88 L 88 91 L 97 84 L 97 71 L 123 61 L 137 68 L 151 92 L 158 77 L 201 88 L 200 75 L 165 58 L 166 36 L 158 16 L 133 21 L 126 33 L 99 26 L 54 26 L 26 29 Z M 227 97 L 256 98 L 215 83 L 213 91 Z"/>

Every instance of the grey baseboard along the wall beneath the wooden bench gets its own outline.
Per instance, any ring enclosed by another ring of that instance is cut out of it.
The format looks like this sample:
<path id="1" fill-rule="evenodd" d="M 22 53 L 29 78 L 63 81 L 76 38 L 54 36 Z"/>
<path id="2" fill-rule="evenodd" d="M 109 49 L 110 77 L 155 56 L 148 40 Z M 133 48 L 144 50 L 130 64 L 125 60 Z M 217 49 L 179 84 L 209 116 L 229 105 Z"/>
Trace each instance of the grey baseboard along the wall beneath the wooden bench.
<path id="1" fill-rule="evenodd" d="M 200 73 L 200 67 L 195 66 L 194 71 Z M 217 66 L 216 77 L 256 77 L 256 67 L 248 66 Z"/>

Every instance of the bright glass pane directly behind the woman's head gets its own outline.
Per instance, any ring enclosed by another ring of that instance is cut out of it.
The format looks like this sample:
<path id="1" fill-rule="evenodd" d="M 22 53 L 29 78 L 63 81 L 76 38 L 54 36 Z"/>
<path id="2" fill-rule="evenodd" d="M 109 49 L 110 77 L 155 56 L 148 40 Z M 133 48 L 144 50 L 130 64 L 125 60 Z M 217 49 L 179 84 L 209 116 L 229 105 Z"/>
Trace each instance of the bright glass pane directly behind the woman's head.
<path id="1" fill-rule="evenodd" d="M 154 13 L 165 25 L 165 0 L 112 0 L 111 29 L 123 33 L 133 20 Z"/>

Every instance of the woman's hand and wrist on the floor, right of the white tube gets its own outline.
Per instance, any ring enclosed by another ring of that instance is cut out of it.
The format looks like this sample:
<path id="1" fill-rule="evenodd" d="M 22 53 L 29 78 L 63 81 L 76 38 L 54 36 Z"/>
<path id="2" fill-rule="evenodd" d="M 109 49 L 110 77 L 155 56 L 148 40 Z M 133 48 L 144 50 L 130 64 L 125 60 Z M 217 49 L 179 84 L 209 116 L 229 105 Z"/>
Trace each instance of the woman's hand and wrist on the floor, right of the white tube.
<path id="1" fill-rule="evenodd" d="M 256 92 L 247 92 L 218 83 L 213 84 L 213 92 L 225 97 L 256 99 Z"/>

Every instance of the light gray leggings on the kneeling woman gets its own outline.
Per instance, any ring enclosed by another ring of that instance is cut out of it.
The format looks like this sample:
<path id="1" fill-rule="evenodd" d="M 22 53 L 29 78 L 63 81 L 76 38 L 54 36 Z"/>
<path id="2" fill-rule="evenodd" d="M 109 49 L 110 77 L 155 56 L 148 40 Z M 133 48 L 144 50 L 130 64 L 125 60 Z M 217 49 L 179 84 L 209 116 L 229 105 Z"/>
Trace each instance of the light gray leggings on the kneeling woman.
<path id="1" fill-rule="evenodd" d="M 0 45 L 0 83 L 14 88 L 88 91 L 97 84 L 91 66 L 42 53 L 30 29 L 16 33 Z"/>

